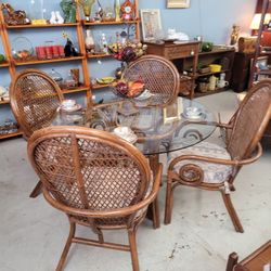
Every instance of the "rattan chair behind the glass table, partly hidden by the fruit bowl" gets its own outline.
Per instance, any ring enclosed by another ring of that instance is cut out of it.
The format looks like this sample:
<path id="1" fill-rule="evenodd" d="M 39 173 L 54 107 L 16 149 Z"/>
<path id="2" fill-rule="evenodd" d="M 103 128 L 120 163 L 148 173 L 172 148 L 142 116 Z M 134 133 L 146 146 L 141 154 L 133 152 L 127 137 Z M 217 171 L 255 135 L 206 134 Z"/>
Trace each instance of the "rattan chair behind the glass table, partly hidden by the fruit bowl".
<path id="1" fill-rule="evenodd" d="M 128 81 L 142 80 L 146 89 L 156 94 L 150 104 L 153 106 L 167 106 L 177 99 L 180 90 L 180 76 L 176 66 L 158 55 L 147 54 L 131 62 L 125 68 L 122 78 Z"/>

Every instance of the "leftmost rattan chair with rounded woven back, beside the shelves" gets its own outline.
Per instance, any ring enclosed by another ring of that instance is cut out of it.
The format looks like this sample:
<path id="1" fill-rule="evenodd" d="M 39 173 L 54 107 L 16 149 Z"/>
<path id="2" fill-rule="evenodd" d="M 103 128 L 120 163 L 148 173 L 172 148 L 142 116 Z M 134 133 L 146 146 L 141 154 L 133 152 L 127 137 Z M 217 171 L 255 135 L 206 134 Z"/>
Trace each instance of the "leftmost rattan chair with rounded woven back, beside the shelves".
<path id="1" fill-rule="evenodd" d="M 57 83 L 38 69 L 25 69 L 16 74 L 11 82 L 10 98 L 12 112 L 25 139 L 36 130 L 50 126 L 63 101 Z M 39 181 L 30 197 L 36 197 L 40 191 Z"/>

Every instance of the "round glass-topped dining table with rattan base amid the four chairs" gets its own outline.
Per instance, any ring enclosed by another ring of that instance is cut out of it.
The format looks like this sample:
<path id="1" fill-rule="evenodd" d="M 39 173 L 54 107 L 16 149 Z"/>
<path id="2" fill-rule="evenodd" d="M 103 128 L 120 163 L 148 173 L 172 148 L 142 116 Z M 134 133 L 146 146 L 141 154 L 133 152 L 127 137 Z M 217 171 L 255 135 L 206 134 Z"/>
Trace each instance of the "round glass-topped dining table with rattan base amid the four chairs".
<path id="1" fill-rule="evenodd" d="M 201 114 L 188 117 L 188 107 L 196 107 Z M 173 115 L 165 118 L 169 113 Z M 128 100 L 96 105 L 91 109 L 75 113 L 59 111 L 52 125 L 78 125 L 114 132 L 117 126 L 128 126 L 137 134 L 134 145 L 149 158 L 155 173 L 159 154 L 165 154 L 194 145 L 208 138 L 215 130 L 215 116 L 202 104 L 179 98 L 168 107 L 142 106 Z M 154 202 L 158 208 L 157 201 Z M 159 227 L 159 218 L 153 218 L 154 228 Z"/>

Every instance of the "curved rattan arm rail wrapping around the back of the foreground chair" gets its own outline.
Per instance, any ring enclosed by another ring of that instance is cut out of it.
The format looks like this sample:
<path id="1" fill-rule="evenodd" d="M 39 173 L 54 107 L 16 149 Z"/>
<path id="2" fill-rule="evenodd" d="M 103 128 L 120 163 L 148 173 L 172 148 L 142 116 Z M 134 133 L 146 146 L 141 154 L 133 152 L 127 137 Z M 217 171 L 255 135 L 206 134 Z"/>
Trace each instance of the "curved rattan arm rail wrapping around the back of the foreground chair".
<path id="1" fill-rule="evenodd" d="M 160 178 L 162 178 L 162 164 L 159 164 L 158 166 L 158 171 L 154 180 L 153 190 L 145 199 L 141 201 L 138 204 L 131 205 L 129 207 L 112 209 L 112 210 L 89 210 L 89 209 L 77 209 L 77 208 L 68 207 L 57 202 L 51 195 L 51 193 L 47 190 L 47 188 L 44 188 L 44 185 L 43 185 L 43 195 L 46 199 L 49 202 L 49 204 L 51 204 L 54 208 L 61 211 L 64 211 L 68 215 L 72 215 L 72 216 L 83 216 L 83 217 L 89 217 L 89 218 L 124 217 L 124 216 L 129 216 L 133 212 L 137 212 L 138 210 L 150 205 L 155 199 L 159 190 Z"/>

